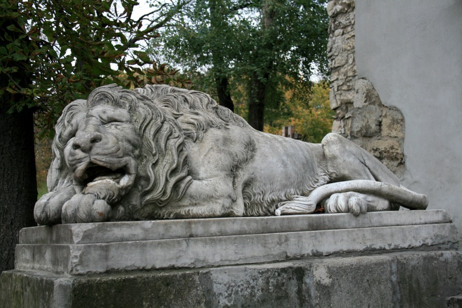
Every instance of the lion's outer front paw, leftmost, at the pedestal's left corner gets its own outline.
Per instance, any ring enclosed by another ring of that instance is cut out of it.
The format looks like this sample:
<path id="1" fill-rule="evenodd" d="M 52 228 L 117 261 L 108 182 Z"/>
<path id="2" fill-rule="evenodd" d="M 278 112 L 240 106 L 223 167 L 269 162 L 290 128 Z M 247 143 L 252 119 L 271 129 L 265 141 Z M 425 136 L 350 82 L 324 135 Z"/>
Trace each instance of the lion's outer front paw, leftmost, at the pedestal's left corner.
<path id="1" fill-rule="evenodd" d="M 57 224 L 61 222 L 63 205 L 75 195 L 74 188 L 68 187 L 43 195 L 35 203 L 34 218 L 38 224 Z"/>

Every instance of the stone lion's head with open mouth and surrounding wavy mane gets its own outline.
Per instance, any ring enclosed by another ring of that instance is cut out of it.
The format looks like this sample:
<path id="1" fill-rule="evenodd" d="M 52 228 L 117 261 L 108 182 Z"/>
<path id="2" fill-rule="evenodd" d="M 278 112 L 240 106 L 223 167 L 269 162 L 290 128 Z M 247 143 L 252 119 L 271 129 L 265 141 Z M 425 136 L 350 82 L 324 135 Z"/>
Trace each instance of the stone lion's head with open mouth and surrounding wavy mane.
<path id="1" fill-rule="evenodd" d="M 90 204 L 75 205 L 71 199 L 64 204 L 63 222 L 74 222 L 69 217 L 76 210 L 93 215 L 96 204 L 99 220 L 141 218 L 137 210 L 143 205 L 181 198 L 190 182 L 181 128 L 151 98 L 105 86 L 87 101 L 70 103 L 58 120 L 48 190 L 73 186 L 76 195 L 104 201 L 93 197 L 87 198 Z"/>

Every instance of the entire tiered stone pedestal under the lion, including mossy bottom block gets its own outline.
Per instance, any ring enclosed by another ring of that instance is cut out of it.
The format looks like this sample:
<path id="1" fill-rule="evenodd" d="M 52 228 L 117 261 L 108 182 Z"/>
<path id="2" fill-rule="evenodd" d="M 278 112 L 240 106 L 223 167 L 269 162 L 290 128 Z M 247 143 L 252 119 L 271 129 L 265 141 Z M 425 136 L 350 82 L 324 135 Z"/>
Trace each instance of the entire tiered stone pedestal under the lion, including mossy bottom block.
<path id="1" fill-rule="evenodd" d="M 4 307 L 441 307 L 461 293 L 443 210 L 21 230 Z"/>

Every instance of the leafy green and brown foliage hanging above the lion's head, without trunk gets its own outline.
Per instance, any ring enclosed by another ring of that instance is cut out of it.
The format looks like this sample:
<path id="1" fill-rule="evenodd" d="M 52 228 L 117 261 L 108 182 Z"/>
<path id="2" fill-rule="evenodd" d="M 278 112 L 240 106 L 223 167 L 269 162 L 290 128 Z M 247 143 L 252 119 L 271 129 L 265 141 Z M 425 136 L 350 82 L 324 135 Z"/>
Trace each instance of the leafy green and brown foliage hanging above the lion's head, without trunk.
<path id="1" fill-rule="evenodd" d="M 39 124 L 52 128 L 67 103 L 96 87 L 143 86 L 146 77 L 159 75 L 157 82 L 169 83 L 176 72 L 153 64 L 142 44 L 157 37 L 186 1 L 157 3 L 139 17 L 133 15 L 136 0 L 2 1 L 0 18 L 14 20 L 7 29 L 17 35 L 0 38 L 6 43 L 0 78 L 8 80 L 0 95 L 20 95 L 9 111 L 33 107 Z M 27 87 L 19 85 L 20 75 L 29 76 Z"/>

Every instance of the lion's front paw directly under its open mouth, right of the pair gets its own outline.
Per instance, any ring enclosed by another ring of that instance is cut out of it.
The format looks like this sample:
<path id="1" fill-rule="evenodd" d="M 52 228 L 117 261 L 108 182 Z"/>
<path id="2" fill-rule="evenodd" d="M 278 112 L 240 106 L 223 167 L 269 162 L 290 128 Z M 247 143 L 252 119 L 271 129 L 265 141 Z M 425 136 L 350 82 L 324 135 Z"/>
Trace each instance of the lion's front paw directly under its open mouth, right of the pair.
<path id="1" fill-rule="evenodd" d="M 99 222 L 111 218 L 111 206 L 93 194 L 74 195 L 67 201 L 61 213 L 63 223 Z"/>

